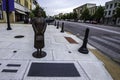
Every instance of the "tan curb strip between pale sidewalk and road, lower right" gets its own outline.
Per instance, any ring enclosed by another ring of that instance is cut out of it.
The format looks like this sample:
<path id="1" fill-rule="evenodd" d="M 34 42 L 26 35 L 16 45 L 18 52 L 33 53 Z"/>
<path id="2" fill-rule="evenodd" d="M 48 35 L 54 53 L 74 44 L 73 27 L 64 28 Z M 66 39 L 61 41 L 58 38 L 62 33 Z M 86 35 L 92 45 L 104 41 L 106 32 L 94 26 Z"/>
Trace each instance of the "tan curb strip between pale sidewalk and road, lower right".
<path id="1" fill-rule="evenodd" d="M 90 51 L 103 62 L 105 68 L 110 73 L 114 80 L 120 79 L 120 65 L 112 61 L 110 58 L 102 54 L 100 51 L 96 49 L 90 49 Z"/>

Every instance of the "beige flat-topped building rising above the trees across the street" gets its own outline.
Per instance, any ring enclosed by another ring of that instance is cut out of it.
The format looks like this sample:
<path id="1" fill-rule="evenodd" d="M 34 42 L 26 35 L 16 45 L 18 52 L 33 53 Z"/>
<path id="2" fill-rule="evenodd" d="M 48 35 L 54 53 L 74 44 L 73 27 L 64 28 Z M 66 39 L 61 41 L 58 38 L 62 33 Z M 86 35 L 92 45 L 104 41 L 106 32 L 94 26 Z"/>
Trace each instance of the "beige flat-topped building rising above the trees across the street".
<path id="1" fill-rule="evenodd" d="M 78 19 L 80 19 L 80 16 L 81 16 L 82 12 L 83 12 L 86 8 L 91 8 L 91 7 L 95 7 L 95 6 L 96 6 L 96 4 L 86 3 L 86 4 L 82 5 L 82 6 L 79 6 L 79 7 L 75 8 L 75 9 L 73 9 L 73 12 L 76 12 L 77 15 L 78 15 L 78 16 L 77 16 Z"/>

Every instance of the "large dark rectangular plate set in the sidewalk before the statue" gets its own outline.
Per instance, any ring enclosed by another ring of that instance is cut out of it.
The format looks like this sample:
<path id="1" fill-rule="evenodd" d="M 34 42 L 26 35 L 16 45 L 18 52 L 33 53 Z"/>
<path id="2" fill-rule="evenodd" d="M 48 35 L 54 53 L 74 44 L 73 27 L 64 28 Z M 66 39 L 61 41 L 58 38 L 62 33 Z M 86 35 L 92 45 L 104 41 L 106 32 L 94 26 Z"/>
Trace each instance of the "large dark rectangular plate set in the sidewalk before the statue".
<path id="1" fill-rule="evenodd" d="M 28 76 L 80 77 L 74 63 L 32 63 Z"/>

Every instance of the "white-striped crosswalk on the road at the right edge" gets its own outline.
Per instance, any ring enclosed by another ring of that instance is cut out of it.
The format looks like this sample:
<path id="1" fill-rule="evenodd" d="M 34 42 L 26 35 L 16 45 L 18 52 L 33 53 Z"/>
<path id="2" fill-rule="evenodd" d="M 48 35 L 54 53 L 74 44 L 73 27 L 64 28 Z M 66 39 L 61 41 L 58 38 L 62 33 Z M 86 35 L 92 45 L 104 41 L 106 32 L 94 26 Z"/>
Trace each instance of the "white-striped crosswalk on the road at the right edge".
<path id="1" fill-rule="evenodd" d="M 119 36 L 90 36 L 88 42 L 104 54 L 120 62 Z"/>

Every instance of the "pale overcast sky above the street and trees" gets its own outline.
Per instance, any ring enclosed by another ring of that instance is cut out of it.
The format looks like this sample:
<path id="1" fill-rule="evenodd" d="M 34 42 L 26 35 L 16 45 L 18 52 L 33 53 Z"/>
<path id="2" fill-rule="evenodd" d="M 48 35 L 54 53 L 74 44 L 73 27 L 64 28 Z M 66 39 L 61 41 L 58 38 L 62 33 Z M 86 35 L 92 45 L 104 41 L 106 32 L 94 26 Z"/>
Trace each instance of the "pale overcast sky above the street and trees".
<path id="1" fill-rule="evenodd" d="M 38 0 L 40 6 L 44 8 L 49 16 L 72 12 L 74 8 L 85 3 L 95 3 L 97 6 L 104 6 L 107 1 L 110 0 Z"/>

